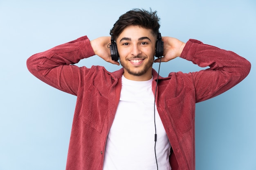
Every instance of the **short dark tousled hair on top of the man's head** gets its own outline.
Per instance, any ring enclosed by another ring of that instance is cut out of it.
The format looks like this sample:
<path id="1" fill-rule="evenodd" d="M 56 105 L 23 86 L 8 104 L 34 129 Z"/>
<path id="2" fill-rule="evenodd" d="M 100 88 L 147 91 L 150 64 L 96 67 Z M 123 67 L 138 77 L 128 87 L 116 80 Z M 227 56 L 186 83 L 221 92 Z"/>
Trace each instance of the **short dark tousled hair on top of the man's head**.
<path id="1" fill-rule="evenodd" d="M 157 11 L 146 11 L 145 9 L 132 9 L 119 17 L 110 35 L 116 39 L 127 26 L 135 25 L 142 28 L 151 29 L 153 35 L 157 36 L 160 28 L 160 18 L 157 17 Z"/>

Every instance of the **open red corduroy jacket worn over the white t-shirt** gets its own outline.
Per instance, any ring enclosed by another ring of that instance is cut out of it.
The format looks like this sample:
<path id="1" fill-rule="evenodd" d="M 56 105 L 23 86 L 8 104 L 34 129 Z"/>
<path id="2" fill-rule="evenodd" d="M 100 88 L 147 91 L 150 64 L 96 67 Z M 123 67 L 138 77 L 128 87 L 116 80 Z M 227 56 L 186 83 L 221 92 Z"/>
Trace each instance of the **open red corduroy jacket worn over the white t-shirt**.
<path id="1" fill-rule="evenodd" d="M 77 96 L 67 170 L 102 169 L 106 138 L 119 102 L 123 69 L 108 72 L 101 66 L 72 65 L 93 55 L 84 36 L 27 60 L 29 71 L 37 78 Z M 195 170 L 195 103 L 234 87 L 249 74 L 251 64 L 234 52 L 194 39 L 186 43 L 180 57 L 210 68 L 160 76 L 156 104 L 173 149 L 172 170 Z M 157 72 L 152 74 L 156 80 Z M 153 81 L 152 89 L 155 87 Z"/>

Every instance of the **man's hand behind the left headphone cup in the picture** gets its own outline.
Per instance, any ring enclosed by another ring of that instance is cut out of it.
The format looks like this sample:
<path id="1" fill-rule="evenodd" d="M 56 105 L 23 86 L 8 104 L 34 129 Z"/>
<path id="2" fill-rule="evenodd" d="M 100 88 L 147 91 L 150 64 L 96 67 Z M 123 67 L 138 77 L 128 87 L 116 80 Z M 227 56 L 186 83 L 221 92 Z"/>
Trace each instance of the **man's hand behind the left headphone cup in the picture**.
<path id="1" fill-rule="evenodd" d="M 111 43 L 111 37 L 99 37 L 90 41 L 94 53 L 101 57 L 103 60 L 119 65 L 118 61 L 114 61 L 111 58 L 109 44 Z"/>

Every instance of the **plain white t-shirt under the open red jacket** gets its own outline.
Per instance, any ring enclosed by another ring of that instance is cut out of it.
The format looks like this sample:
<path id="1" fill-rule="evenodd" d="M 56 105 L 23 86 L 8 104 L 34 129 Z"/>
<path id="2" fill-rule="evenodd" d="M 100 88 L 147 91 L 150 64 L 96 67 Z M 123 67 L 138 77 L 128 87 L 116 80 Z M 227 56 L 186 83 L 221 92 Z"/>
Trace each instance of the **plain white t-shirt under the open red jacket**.
<path id="1" fill-rule="evenodd" d="M 120 101 L 106 142 L 103 170 L 157 169 L 152 81 L 131 81 L 122 76 Z M 155 121 L 158 168 L 171 170 L 171 144 L 157 109 Z"/>

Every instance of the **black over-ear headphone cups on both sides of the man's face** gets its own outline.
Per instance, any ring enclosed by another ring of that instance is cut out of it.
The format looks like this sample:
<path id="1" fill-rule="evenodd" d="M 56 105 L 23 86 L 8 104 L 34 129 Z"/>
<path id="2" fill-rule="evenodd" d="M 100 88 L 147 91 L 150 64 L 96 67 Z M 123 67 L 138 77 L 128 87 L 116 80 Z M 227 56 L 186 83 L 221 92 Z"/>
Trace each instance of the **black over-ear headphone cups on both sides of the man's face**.
<path id="1" fill-rule="evenodd" d="M 110 54 L 111 54 L 112 60 L 118 61 L 119 54 L 117 50 L 117 44 L 115 43 L 115 39 L 113 35 L 111 35 L 111 44 L 109 47 L 110 47 Z M 162 57 L 163 52 L 164 52 L 164 42 L 162 41 L 161 33 L 158 33 L 157 42 L 155 44 L 155 57 L 157 58 Z"/>

